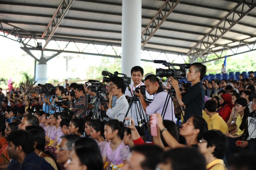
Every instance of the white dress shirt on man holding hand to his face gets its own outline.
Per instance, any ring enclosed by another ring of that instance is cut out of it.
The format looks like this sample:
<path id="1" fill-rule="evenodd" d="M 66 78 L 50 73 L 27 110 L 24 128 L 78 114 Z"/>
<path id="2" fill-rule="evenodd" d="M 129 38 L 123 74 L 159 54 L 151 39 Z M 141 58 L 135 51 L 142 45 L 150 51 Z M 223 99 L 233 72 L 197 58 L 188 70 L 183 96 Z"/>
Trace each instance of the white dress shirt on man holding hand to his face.
<path id="1" fill-rule="evenodd" d="M 116 117 L 120 122 L 123 122 L 128 107 L 129 104 L 125 98 L 125 95 L 122 95 L 116 100 L 115 107 L 108 109 L 108 111 L 106 111 L 106 115 L 108 115 L 108 117 L 110 117 L 111 119 L 115 119 Z M 127 117 L 131 117 L 130 110 L 127 114 Z"/>

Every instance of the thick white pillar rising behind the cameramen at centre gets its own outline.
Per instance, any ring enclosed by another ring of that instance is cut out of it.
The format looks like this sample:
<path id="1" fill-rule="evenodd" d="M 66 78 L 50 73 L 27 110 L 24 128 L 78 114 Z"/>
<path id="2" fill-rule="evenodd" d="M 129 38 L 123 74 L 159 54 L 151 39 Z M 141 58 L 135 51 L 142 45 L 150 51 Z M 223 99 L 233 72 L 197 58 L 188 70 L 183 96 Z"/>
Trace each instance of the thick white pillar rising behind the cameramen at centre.
<path id="1" fill-rule="evenodd" d="M 131 68 L 140 65 L 141 0 L 122 3 L 122 73 L 128 77 Z"/>

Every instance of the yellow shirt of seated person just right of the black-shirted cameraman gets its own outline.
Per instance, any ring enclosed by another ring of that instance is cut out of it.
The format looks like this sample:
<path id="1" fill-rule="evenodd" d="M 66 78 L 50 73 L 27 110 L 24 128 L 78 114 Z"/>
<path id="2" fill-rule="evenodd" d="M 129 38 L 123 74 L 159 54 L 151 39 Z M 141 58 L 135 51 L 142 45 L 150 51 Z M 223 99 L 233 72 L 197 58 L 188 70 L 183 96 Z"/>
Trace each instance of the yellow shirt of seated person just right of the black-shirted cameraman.
<path id="1" fill-rule="evenodd" d="M 210 118 L 210 117 L 209 117 Z M 228 125 L 227 123 L 222 119 L 221 116 L 219 116 L 218 113 L 215 113 L 212 118 L 208 120 L 208 130 L 217 129 L 220 130 L 222 133 L 228 133 Z"/>

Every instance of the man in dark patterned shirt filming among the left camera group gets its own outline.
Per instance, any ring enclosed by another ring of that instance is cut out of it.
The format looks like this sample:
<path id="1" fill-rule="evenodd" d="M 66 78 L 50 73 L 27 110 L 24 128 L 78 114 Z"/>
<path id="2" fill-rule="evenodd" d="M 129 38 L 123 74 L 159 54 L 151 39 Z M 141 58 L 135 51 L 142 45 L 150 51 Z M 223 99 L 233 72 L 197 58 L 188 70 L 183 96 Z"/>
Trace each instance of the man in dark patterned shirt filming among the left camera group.
<path id="1" fill-rule="evenodd" d="M 72 119 L 85 118 L 88 109 L 88 101 L 84 94 L 84 86 L 81 84 L 75 86 L 74 92 L 74 97 L 76 98 L 74 103 L 71 101 L 71 96 L 69 94 L 67 95 L 67 98 L 69 99 L 69 109 L 74 113 Z"/>

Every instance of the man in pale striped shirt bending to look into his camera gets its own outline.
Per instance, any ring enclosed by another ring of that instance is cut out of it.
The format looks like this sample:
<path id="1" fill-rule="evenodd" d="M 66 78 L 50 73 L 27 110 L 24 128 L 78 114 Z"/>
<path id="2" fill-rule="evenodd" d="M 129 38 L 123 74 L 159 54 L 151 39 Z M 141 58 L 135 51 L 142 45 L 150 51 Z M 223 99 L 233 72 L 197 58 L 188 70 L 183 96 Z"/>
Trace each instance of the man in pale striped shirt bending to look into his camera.
<path id="1" fill-rule="evenodd" d="M 144 96 L 140 93 L 140 90 L 139 93 L 135 92 L 135 94 L 140 97 L 143 109 L 145 110 L 147 115 L 151 115 L 153 113 L 161 114 L 163 110 L 163 105 L 166 101 L 167 92 L 165 91 L 165 89 L 163 89 L 162 86 L 160 86 L 160 81 L 155 75 L 147 76 L 144 80 L 144 83 L 148 94 L 155 95 L 153 101 L 150 104 L 147 104 L 144 101 Z M 165 117 L 163 119 L 175 122 L 174 106 L 171 98 L 166 109 Z"/>

